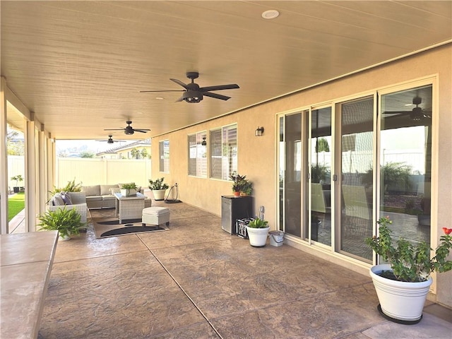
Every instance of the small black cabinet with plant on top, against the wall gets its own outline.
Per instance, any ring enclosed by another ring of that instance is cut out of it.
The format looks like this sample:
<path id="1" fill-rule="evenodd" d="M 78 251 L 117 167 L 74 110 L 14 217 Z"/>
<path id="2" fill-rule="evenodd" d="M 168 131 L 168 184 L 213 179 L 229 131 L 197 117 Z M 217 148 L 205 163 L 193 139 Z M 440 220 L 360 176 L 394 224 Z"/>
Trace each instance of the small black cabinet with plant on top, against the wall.
<path id="1" fill-rule="evenodd" d="M 252 196 L 221 196 L 221 228 L 235 234 L 237 219 L 253 218 Z"/>

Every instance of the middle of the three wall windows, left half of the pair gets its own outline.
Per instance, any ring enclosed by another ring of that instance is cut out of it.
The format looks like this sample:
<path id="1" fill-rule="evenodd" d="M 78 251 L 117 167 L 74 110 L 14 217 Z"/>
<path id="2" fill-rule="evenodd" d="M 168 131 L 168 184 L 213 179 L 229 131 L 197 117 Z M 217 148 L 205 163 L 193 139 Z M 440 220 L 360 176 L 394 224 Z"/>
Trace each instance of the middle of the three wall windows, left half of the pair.
<path id="1" fill-rule="evenodd" d="M 206 131 L 189 136 L 189 175 L 207 177 Z"/>

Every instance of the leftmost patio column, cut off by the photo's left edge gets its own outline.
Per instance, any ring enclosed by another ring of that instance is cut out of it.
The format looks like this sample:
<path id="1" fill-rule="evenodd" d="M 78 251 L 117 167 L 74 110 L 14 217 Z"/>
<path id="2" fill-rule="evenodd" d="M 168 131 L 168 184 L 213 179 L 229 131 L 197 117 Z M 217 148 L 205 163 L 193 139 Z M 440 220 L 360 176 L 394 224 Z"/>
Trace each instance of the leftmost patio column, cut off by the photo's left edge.
<path id="1" fill-rule="evenodd" d="M 0 234 L 8 232 L 8 152 L 6 150 L 6 79 L 0 78 Z"/>

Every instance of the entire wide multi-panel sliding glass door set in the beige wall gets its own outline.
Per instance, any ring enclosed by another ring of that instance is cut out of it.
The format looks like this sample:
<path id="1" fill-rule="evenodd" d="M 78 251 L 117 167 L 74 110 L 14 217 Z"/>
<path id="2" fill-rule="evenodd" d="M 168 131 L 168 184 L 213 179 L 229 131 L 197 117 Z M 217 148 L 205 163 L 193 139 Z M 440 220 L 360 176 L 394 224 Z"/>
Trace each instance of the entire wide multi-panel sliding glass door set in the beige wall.
<path id="1" fill-rule="evenodd" d="M 281 114 L 280 230 L 367 263 L 379 215 L 429 243 L 432 97 L 428 84 Z"/>

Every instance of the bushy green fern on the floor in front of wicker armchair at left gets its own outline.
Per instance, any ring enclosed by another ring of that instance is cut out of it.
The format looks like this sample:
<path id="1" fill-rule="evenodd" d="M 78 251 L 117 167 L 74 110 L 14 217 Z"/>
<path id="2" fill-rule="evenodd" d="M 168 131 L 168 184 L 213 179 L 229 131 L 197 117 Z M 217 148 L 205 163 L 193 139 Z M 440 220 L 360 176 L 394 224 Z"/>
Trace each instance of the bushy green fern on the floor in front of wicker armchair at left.
<path id="1" fill-rule="evenodd" d="M 42 230 L 57 230 L 61 240 L 71 239 L 71 235 L 80 234 L 80 230 L 86 227 L 85 222 L 81 222 L 81 215 L 73 208 L 57 208 L 47 210 L 39 217 Z"/>

